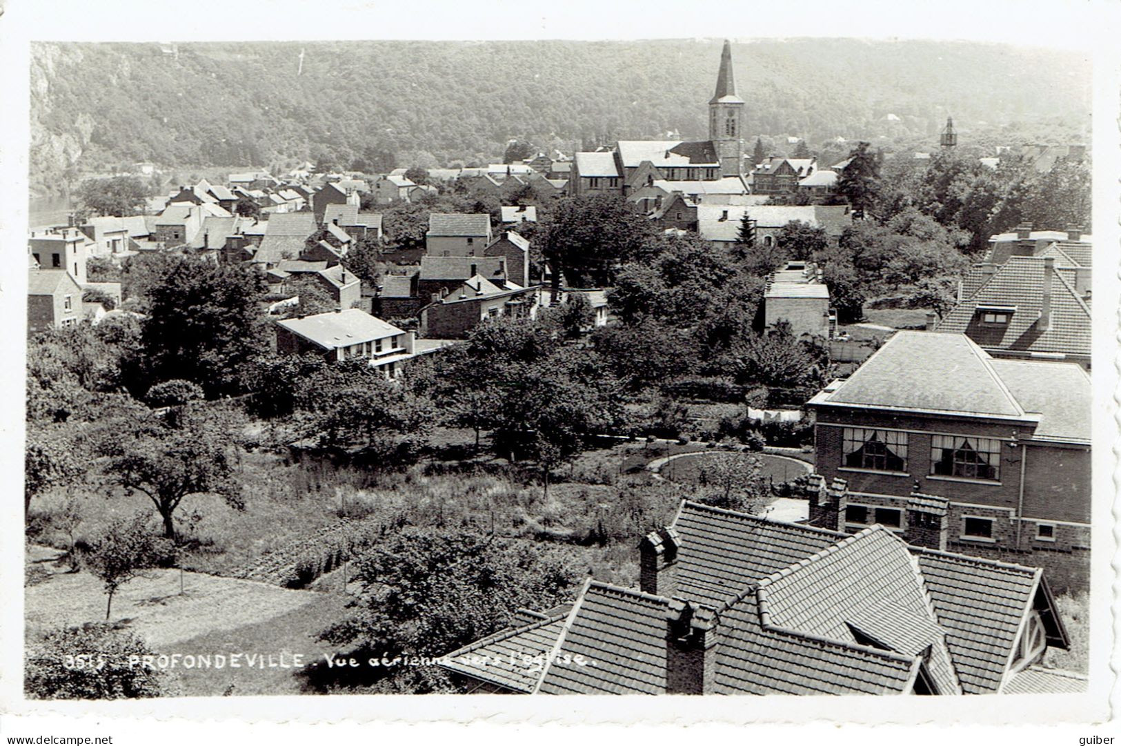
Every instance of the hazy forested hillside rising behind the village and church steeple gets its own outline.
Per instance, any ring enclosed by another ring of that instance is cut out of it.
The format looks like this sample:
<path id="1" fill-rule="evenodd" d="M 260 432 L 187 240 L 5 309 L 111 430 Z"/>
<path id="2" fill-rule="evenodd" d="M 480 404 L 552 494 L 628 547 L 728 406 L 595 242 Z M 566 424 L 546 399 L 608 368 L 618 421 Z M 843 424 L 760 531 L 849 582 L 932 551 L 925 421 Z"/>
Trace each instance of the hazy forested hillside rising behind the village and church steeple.
<path id="1" fill-rule="evenodd" d="M 919 147 L 1085 141 L 1090 63 L 1002 45 L 733 44 L 750 137 Z M 705 133 L 720 42 L 56 44 L 33 47 L 31 186 L 121 164 L 432 167 L 509 139 L 572 149 Z M 891 117 L 889 117 L 891 114 Z"/>

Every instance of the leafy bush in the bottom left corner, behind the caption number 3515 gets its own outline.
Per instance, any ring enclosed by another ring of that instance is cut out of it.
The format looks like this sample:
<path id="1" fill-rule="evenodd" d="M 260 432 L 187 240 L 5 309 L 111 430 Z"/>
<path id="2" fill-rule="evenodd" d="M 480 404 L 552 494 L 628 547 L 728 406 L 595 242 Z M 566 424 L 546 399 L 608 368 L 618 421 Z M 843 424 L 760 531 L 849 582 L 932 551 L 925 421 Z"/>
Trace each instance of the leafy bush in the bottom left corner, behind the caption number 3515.
<path id="1" fill-rule="evenodd" d="M 160 697 L 168 693 L 160 672 L 130 662 L 151 654 L 139 635 L 110 624 L 52 629 L 28 644 L 24 690 L 28 699 Z"/>

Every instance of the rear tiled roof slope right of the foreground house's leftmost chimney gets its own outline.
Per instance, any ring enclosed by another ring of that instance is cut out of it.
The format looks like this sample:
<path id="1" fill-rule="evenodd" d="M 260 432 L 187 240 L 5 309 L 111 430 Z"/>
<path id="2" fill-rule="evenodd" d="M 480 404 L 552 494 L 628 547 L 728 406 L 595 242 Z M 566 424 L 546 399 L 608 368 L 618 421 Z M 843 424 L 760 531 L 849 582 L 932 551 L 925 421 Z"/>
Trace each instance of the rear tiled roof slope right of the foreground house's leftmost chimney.
<path id="1" fill-rule="evenodd" d="M 675 595 L 722 604 L 749 583 L 816 554 L 845 534 L 762 521 L 685 503 L 674 519 L 680 536 Z"/>

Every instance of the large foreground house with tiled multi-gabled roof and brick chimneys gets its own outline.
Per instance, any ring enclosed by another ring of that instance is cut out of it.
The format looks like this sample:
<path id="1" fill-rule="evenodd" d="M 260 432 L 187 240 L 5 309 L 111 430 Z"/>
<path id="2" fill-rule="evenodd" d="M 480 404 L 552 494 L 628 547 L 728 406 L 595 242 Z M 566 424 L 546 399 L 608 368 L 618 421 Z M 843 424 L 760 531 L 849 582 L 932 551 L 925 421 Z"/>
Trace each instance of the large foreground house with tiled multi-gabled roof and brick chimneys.
<path id="1" fill-rule="evenodd" d="M 847 535 L 684 501 L 639 558 L 638 588 L 589 579 L 439 665 L 474 692 L 954 696 L 1055 685 L 1040 658 L 1069 647 L 1039 569 L 884 526 Z M 1058 691 L 1085 688 L 1057 673 Z"/>

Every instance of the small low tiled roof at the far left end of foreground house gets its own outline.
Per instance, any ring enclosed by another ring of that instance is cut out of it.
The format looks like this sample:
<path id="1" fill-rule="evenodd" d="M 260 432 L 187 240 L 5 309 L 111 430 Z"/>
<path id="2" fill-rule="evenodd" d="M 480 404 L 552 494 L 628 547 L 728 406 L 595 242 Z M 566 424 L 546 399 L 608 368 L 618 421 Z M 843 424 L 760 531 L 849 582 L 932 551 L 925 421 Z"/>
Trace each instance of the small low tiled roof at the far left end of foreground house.
<path id="1" fill-rule="evenodd" d="M 448 654 L 444 667 L 528 694 L 541 678 L 539 662 L 553 650 L 567 616 L 566 610 L 553 618 L 483 637 Z"/>

